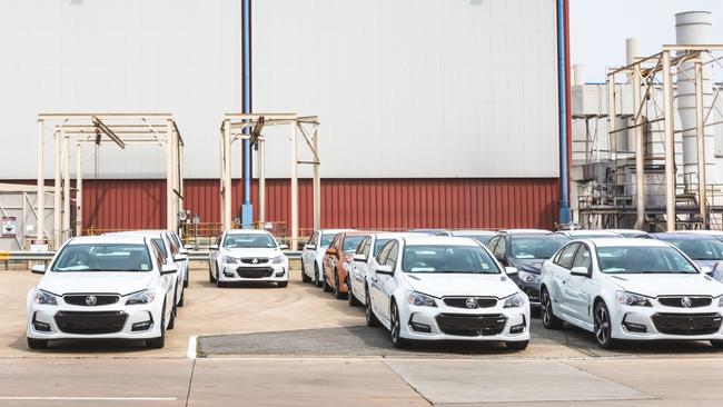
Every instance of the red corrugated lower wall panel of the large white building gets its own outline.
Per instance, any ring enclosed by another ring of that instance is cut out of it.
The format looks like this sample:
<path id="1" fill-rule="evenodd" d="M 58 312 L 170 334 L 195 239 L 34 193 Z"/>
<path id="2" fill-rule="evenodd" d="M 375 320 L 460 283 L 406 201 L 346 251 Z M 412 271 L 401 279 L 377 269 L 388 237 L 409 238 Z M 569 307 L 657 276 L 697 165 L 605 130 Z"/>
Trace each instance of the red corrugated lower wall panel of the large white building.
<path id="1" fill-rule="evenodd" d="M 267 180 L 268 221 L 288 222 L 288 180 Z M 97 229 L 159 228 L 166 219 L 165 180 L 86 180 L 83 226 Z M 219 181 L 187 179 L 185 208 L 202 222 L 218 222 Z M 232 206 L 241 204 L 234 181 Z M 402 230 L 407 228 L 553 228 L 557 178 L 324 179 L 321 226 Z M 311 181 L 299 181 L 299 226 L 313 222 Z M 258 201 L 258 183 L 251 189 Z M 258 215 L 258 210 L 256 210 Z"/>

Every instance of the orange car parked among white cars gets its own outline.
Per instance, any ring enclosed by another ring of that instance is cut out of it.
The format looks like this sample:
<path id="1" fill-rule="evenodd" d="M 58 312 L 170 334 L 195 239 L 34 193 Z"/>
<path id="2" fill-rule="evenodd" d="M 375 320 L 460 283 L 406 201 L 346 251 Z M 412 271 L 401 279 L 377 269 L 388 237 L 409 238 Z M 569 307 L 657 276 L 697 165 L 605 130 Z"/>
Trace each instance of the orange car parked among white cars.
<path id="1" fill-rule="evenodd" d="M 324 267 L 324 292 L 331 292 L 343 299 L 349 291 L 347 267 L 351 267 L 354 252 L 369 232 L 343 231 L 329 244 L 321 265 Z"/>

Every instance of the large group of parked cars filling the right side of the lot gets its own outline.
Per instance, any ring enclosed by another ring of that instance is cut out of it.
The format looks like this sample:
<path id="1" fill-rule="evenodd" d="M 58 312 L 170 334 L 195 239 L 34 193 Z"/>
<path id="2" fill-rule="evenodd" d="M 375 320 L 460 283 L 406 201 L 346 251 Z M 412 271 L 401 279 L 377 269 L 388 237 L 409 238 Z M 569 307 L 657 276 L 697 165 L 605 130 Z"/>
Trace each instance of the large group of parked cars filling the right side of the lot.
<path id="1" fill-rule="evenodd" d="M 721 348 L 719 261 L 723 234 L 706 231 L 319 230 L 304 247 L 303 280 L 364 306 L 367 325 L 385 327 L 397 347 L 454 339 L 524 349 L 539 307 L 545 328 L 577 326 L 603 348 L 651 339 Z"/>

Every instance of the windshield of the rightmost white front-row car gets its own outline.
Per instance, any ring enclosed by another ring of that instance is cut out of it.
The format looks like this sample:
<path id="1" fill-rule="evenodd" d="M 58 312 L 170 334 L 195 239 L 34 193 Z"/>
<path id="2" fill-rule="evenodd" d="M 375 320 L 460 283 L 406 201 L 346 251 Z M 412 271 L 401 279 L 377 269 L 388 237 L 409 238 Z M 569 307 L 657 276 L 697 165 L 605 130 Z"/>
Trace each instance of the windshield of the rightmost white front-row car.
<path id="1" fill-rule="evenodd" d="M 606 274 L 696 274 L 693 266 L 673 247 L 601 247 L 600 270 Z"/>

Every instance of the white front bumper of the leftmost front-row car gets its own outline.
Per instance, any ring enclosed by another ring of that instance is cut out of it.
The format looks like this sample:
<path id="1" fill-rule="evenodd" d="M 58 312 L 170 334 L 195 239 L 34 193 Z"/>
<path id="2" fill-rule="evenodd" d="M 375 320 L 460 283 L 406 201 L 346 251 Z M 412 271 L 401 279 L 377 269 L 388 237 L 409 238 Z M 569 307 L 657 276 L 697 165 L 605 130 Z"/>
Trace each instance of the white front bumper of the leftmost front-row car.
<path id="1" fill-rule="evenodd" d="M 79 307 L 33 305 L 27 336 L 34 339 L 148 339 L 160 336 L 155 305 Z"/>

